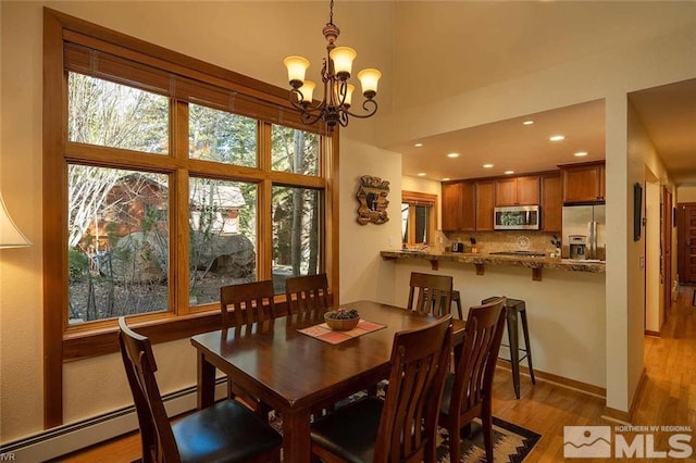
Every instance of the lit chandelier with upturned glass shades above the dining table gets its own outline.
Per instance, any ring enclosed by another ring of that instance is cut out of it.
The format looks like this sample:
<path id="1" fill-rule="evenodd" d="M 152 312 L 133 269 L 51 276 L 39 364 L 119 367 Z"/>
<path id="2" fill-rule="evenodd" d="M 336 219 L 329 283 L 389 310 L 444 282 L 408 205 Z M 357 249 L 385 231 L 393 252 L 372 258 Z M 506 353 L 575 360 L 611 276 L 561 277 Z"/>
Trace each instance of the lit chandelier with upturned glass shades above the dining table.
<path id="1" fill-rule="evenodd" d="M 357 114 L 350 112 L 352 92 L 355 86 L 348 84 L 352 70 L 352 60 L 358 53 L 352 48 L 336 47 L 336 39 L 340 34 L 334 24 L 334 0 L 331 0 L 328 23 L 322 29 L 326 45 L 326 58 L 322 66 L 322 82 L 324 83 L 324 97 L 314 104 L 313 92 L 316 84 L 304 79 L 304 73 L 309 67 L 309 60 L 302 57 L 287 57 L 283 63 L 287 67 L 288 80 L 290 82 L 290 103 L 301 112 L 301 120 L 304 124 L 314 124 L 324 121 L 328 132 L 333 132 L 336 124 L 341 127 L 348 125 L 348 116 L 366 118 L 377 112 L 377 102 L 374 97 L 377 95 L 377 82 L 382 73 L 377 70 L 366 68 L 358 73 L 358 79 L 362 86 L 362 95 L 365 100 L 362 103 L 364 113 Z"/>

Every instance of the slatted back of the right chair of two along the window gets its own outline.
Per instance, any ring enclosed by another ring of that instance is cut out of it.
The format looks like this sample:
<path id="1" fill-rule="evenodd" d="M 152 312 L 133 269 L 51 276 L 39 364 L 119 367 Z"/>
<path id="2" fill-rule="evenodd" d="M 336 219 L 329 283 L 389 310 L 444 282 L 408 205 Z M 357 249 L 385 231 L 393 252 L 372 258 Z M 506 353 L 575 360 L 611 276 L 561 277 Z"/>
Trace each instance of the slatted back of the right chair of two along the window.
<path id="1" fill-rule="evenodd" d="M 326 274 L 287 278 L 285 296 L 288 315 L 297 320 L 321 318 L 331 309 Z"/>

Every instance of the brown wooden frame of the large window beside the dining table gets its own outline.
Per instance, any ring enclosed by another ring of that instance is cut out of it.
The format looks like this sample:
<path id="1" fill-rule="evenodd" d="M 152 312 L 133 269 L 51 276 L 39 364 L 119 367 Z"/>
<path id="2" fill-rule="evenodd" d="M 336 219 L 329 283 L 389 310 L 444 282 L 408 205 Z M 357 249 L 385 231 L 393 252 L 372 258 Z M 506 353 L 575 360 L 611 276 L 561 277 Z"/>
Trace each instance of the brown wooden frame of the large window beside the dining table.
<path id="1" fill-rule="evenodd" d="M 188 120 L 188 102 L 253 117 L 259 126 L 258 167 L 223 165 L 188 159 L 184 130 L 170 135 L 167 155 L 88 146 L 67 140 L 67 72 L 154 91 L 170 97 L 170 127 Z M 173 85 L 173 80 L 175 84 Z M 271 170 L 272 124 L 323 135 L 321 173 L 307 176 Z M 269 141 L 266 141 L 269 140 Z M 271 278 L 273 185 L 308 187 L 323 191 L 323 271 L 328 274 L 334 300 L 338 300 L 338 130 L 327 134 L 323 125 L 307 126 L 287 99 L 287 90 L 224 70 L 86 21 L 44 9 L 44 424 L 63 423 L 63 363 L 119 350 L 116 321 L 104 320 L 69 326 L 67 321 L 67 185 L 69 163 L 107 167 L 152 170 L 170 176 L 172 209 L 188 201 L 188 173 L 258 185 L 257 275 Z M 138 158 L 133 163 L 133 157 Z M 62 175 L 61 175 L 62 174 Z M 187 217 L 171 212 L 170 236 L 188 235 Z M 186 238 L 186 237 L 184 237 Z M 186 241 L 186 240 L 184 240 Z M 174 242 L 173 240 L 171 242 Z M 183 339 L 220 327 L 215 303 L 189 308 L 188 250 L 170 250 L 173 261 L 170 311 L 134 315 L 133 324 L 153 342 Z M 284 296 L 276 297 L 284 306 Z"/>

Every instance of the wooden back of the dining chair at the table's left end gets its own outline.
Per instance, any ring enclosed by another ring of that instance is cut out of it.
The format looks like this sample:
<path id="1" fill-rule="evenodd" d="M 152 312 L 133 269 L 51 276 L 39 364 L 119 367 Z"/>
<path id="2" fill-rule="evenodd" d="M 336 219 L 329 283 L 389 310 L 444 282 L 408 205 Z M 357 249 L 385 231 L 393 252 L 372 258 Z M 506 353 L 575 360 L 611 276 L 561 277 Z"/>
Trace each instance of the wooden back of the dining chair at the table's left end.
<path id="1" fill-rule="evenodd" d="M 181 461 L 154 377 L 157 364 L 150 340 L 128 328 L 122 316 L 119 318 L 119 343 L 138 415 L 142 461 Z"/>

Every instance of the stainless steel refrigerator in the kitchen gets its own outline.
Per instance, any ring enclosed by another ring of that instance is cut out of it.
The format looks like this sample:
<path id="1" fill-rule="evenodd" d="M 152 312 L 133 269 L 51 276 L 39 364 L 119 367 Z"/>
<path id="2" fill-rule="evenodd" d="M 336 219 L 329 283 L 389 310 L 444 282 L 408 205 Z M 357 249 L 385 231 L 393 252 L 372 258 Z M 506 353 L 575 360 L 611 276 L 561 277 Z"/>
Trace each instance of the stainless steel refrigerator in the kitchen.
<path id="1" fill-rule="evenodd" d="M 584 259 L 606 260 L 607 235 L 606 235 L 606 205 L 564 205 L 563 207 L 563 228 L 561 239 L 561 256 L 571 256 L 571 236 L 584 236 L 585 252 Z M 577 238 L 575 238 L 575 241 Z"/>

